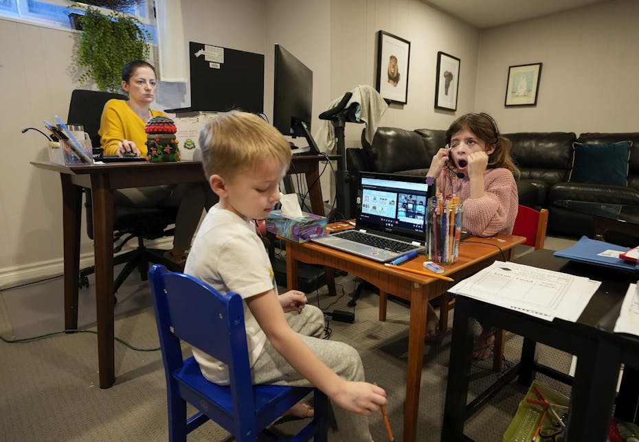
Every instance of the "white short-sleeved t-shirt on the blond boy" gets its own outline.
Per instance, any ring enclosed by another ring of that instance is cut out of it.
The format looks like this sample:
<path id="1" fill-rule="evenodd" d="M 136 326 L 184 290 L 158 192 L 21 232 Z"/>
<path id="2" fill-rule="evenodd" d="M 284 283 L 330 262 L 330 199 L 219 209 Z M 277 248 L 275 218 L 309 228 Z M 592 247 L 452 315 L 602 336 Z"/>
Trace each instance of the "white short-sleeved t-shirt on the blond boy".
<path id="1" fill-rule="evenodd" d="M 218 206 L 219 203 L 212 207 L 202 221 L 184 272 L 205 281 L 218 292 L 237 292 L 243 299 L 268 290 L 274 290 L 277 296 L 271 261 L 255 232 L 255 225 Z M 246 302 L 243 304 L 249 362 L 253 367 L 267 338 Z M 193 356 L 204 377 L 216 384 L 229 383 L 226 364 L 196 348 Z"/>

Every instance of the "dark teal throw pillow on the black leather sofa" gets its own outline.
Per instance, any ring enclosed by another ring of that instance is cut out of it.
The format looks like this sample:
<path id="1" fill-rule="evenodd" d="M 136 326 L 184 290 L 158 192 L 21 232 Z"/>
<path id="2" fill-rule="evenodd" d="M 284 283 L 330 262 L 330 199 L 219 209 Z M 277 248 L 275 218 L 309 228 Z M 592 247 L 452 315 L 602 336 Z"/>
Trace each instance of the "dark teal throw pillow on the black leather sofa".
<path id="1" fill-rule="evenodd" d="M 632 141 L 608 144 L 572 143 L 570 183 L 628 185 Z"/>

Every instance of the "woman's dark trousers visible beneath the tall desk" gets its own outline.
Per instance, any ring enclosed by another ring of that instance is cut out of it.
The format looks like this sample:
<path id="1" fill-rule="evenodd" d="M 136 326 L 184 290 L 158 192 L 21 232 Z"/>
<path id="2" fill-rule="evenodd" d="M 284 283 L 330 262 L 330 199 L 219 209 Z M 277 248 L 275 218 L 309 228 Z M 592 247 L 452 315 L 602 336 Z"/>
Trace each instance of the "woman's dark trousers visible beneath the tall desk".
<path id="1" fill-rule="evenodd" d="M 200 222 L 203 209 L 210 209 L 217 196 L 208 183 L 185 183 L 117 189 L 113 195 L 117 205 L 131 207 L 177 207 L 173 246 L 188 250 Z"/>

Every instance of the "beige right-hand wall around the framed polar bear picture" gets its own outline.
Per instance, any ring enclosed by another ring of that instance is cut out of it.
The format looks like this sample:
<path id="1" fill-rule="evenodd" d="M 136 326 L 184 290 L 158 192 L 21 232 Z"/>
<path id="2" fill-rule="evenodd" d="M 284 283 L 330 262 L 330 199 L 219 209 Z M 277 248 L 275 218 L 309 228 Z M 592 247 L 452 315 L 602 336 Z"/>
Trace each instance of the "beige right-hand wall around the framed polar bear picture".
<path id="1" fill-rule="evenodd" d="M 636 132 L 639 2 L 616 0 L 482 32 L 477 110 L 503 132 Z M 542 62 L 535 107 L 505 107 L 508 67 Z"/>

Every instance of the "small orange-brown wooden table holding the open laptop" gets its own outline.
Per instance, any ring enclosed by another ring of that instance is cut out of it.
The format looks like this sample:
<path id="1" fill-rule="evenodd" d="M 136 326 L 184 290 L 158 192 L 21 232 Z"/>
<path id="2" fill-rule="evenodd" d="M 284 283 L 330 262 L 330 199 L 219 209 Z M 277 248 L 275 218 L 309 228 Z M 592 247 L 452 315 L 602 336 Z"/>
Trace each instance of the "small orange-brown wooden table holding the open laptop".
<path id="1" fill-rule="evenodd" d="M 504 242 L 499 242 L 503 240 Z M 511 235 L 497 235 L 495 238 L 470 238 L 460 244 L 459 260 L 446 266 L 446 276 L 460 280 L 489 266 L 495 260 L 511 259 L 513 247 L 522 244 L 526 238 Z M 478 242 L 478 241 L 481 241 Z M 494 243 L 504 251 L 486 242 Z M 426 335 L 427 303 L 431 299 L 447 292 L 454 283 L 427 276 L 416 275 L 388 268 L 370 259 L 341 252 L 333 248 L 306 242 L 286 242 L 287 284 L 289 290 L 296 287 L 298 281 L 298 261 L 307 264 L 322 264 L 339 268 L 352 275 L 372 283 L 384 292 L 410 301 L 410 325 L 408 332 L 408 363 L 406 369 L 406 403 L 404 408 L 404 438 L 406 442 L 415 440 L 417 413 L 419 407 L 419 389 L 424 356 L 424 338 Z M 403 266 L 423 270 L 423 255 L 407 261 Z M 383 320 L 383 318 L 380 318 Z M 469 356 L 471 351 L 468 351 Z"/>

